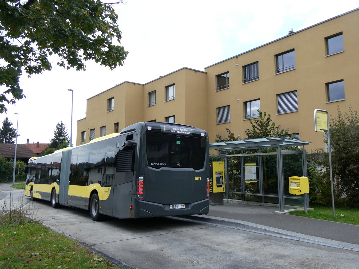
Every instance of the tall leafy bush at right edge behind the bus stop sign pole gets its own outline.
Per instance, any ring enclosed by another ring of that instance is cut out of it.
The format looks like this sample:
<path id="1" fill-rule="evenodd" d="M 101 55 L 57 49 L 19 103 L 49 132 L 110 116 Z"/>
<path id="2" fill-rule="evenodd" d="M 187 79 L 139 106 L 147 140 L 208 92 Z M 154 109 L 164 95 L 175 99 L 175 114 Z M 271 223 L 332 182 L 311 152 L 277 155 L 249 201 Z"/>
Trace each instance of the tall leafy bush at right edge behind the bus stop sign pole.
<path id="1" fill-rule="evenodd" d="M 337 109 L 336 117 L 330 119 L 330 143 L 335 190 L 348 206 L 359 206 L 359 115 L 358 110 L 349 107 L 349 113 Z M 327 143 L 327 139 L 325 139 Z M 316 162 L 323 166 L 326 180 L 329 174 L 329 155 L 320 152 Z M 330 186 L 330 184 L 329 184 Z"/>

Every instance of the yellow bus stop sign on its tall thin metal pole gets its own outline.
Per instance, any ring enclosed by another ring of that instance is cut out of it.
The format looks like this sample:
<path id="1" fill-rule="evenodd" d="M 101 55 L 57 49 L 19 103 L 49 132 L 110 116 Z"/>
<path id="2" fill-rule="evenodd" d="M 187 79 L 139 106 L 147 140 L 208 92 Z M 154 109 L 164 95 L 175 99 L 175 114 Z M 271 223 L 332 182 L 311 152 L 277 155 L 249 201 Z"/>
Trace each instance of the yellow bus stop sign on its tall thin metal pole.
<path id="1" fill-rule="evenodd" d="M 318 111 L 324 112 L 317 113 Z M 333 217 L 335 217 L 335 207 L 334 207 L 334 189 L 333 189 L 333 171 L 332 171 L 332 156 L 331 156 L 331 147 L 330 147 L 330 131 L 329 131 L 329 114 L 327 110 L 314 109 L 314 122 L 315 122 L 315 131 L 316 132 L 326 132 L 328 137 L 328 153 L 329 153 L 329 169 L 330 169 L 330 187 L 332 191 L 332 207 L 333 207 Z"/>

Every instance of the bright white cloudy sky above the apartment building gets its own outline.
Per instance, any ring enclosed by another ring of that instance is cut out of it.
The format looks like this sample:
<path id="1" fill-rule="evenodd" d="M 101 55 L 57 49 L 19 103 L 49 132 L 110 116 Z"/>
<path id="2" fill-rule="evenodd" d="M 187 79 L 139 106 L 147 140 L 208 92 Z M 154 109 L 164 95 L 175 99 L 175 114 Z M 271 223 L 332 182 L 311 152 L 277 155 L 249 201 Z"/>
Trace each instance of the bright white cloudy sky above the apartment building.
<path id="1" fill-rule="evenodd" d="M 105 0 L 103 0 L 105 1 Z M 113 2 L 107 0 L 107 3 Z M 182 67 L 204 67 L 261 46 L 294 31 L 358 8 L 356 1 L 126 0 L 114 6 L 129 51 L 123 66 L 86 63 L 86 71 L 51 71 L 20 78 L 25 99 L 7 105 L 5 117 L 16 128 L 18 143 L 48 143 L 56 124 L 70 134 L 71 92 L 74 90 L 73 144 L 77 120 L 85 117 L 86 99 L 123 81 L 146 83 Z M 1 91 L 5 88 L 0 87 Z M 2 126 L 0 122 L 0 127 Z"/>

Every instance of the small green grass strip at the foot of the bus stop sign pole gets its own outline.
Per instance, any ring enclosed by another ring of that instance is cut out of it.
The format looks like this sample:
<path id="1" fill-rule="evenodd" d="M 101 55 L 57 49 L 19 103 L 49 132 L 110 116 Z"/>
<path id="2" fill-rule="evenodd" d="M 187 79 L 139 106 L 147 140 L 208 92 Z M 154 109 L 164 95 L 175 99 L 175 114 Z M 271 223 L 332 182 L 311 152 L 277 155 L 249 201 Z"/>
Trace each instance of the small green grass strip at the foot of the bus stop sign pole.
<path id="1" fill-rule="evenodd" d="M 348 224 L 359 225 L 359 210 L 358 208 L 335 208 L 335 217 L 333 216 L 333 209 L 331 207 L 312 206 L 313 211 L 292 211 L 291 215 L 302 216 L 308 218 L 317 218 L 320 220 L 342 222 Z"/>

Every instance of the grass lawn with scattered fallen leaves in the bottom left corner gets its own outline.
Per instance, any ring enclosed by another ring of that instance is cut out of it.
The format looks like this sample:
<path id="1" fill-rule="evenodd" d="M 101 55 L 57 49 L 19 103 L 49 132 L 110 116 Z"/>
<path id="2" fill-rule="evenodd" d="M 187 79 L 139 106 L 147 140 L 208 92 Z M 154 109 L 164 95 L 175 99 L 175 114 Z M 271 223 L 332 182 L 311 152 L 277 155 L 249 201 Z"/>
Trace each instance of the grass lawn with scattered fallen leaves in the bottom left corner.
<path id="1" fill-rule="evenodd" d="M 123 268 L 75 240 L 12 214 L 0 215 L 0 268 Z"/>

